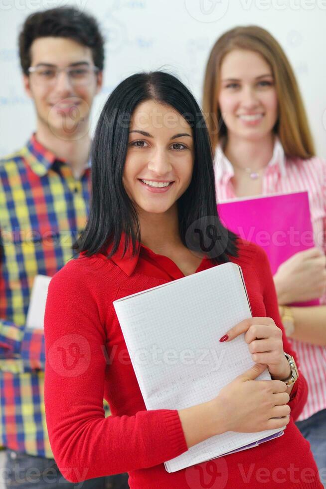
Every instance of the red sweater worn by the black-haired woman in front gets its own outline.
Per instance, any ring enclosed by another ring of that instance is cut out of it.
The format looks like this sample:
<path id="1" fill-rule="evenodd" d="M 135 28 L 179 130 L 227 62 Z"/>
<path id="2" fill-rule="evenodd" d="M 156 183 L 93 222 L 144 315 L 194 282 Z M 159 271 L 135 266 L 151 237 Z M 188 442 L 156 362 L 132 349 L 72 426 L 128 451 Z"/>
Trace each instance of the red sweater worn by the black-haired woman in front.
<path id="1" fill-rule="evenodd" d="M 238 258 L 253 316 L 283 329 L 265 252 L 240 243 Z M 196 271 L 212 266 L 204 258 Z M 178 412 L 147 411 L 112 302 L 182 277 L 175 263 L 142 246 L 112 259 L 83 254 L 51 280 L 45 313 L 45 410 L 63 476 L 80 482 L 129 472 L 132 489 L 320 488 L 309 443 L 294 424 L 307 399 L 301 375 L 285 435 L 259 447 L 168 474 L 163 462 L 187 450 Z M 219 338 L 216 338 L 218 341 Z M 293 354 L 284 336 L 284 351 Z M 105 418 L 103 398 L 112 416 Z"/>

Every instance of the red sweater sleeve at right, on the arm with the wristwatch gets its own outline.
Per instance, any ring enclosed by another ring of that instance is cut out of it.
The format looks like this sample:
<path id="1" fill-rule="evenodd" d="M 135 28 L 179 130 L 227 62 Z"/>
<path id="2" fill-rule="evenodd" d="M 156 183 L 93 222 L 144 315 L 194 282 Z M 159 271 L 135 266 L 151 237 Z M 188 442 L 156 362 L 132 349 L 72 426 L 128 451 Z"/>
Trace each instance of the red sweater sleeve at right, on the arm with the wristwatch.
<path id="1" fill-rule="evenodd" d="M 297 380 L 297 382 L 294 384 L 292 388 L 291 395 L 290 395 L 290 402 L 289 402 L 289 406 L 291 407 L 291 415 L 296 421 L 307 401 L 308 385 L 305 377 L 300 371 L 300 361 L 298 360 L 297 354 L 296 352 L 293 351 L 284 331 L 284 327 L 279 313 L 274 280 L 273 280 L 272 271 L 270 268 L 267 254 L 262 248 L 258 246 L 257 246 L 256 262 L 257 263 L 259 262 L 258 268 L 261 276 L 260 279 L 261 279 L 262 289 L 263 289 L 266 316 L 271 317 L 275 321 L 275 324 L 280 329 L 282 329 L 283 349 L 285 353 L 288 353 L 289 355 L 292 355 L 295 358 L 296 364 L 299 369 L 299 379 Z"/>

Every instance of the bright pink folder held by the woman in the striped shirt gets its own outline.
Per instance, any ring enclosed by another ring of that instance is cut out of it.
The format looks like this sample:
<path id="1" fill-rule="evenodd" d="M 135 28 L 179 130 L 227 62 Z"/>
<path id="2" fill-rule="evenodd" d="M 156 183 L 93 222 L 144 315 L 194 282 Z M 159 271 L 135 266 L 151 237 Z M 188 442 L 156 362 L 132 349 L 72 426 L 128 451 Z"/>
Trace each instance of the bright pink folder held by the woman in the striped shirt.
<path id="1" fill-rule="evenodd" d="M 295 253 L 315 246 L 308 192 L 236 199 L 218 204 L 217 211 L 228 229 L 265 249 L 273 275 Z"/>

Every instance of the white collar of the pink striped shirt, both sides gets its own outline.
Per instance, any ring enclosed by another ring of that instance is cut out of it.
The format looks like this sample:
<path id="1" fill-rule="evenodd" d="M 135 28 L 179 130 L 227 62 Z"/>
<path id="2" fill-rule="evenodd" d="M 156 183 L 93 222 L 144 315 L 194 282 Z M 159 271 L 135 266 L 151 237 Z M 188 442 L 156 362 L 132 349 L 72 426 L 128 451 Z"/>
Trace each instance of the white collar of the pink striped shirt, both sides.
<path id="1" fill-rule="evenodd" d="M 230 160 L 227 159 L 223 152 L 223 143 L 220 143 L 215 152 L 215 178 L 220 181 L 222 178 L 229 180 L 234 176 L 234 169 Z M 282 177 L 286 176 L 285 154 L 279 138 L 275 138 L 273 155 L 267 165 L 267 169 L 280 173 Z"/>

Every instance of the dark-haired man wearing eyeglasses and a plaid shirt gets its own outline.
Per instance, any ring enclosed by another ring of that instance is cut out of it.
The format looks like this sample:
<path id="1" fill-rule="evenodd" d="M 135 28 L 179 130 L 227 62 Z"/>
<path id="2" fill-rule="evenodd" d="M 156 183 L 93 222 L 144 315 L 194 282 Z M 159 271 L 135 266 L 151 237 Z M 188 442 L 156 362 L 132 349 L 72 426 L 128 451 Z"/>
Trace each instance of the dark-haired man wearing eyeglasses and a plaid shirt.
<path id="1" fill-rule="evenodd" d="M 72 258 L 72 245 L 86 222 L 90 110 L 102 87 L 104 41 L 92 16 L 54 8 L 27 17 L 19 54 L 36 131 L 21 150 L 0 161 L 2 484 L 125 489 L 127 475 L 87 480 L 85 467 L 86 482 L 74 485 L 62 468 L 60 474 L 46 430 L 44 335 L 26 327 L 35 276 L 53 276 Z M 90 454 L 90 464 L 95 457 Z"/>

